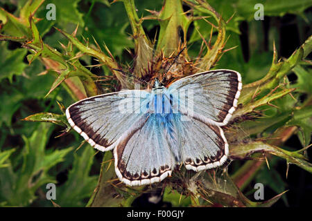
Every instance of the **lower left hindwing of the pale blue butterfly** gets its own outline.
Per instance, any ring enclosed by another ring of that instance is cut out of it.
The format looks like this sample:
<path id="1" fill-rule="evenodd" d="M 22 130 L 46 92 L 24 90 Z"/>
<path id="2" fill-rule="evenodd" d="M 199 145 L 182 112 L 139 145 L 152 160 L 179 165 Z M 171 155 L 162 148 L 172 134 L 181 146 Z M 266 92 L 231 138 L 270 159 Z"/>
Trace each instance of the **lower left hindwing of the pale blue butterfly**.
<path id="1" fill-rule="evenodd" d="M 166 140 L 164 119 L 157 114 L 142 116 L 126 131 L 114 148 L 115 171 L 130 186 L 160 182 L 171 175 L 175 159 Z"/>

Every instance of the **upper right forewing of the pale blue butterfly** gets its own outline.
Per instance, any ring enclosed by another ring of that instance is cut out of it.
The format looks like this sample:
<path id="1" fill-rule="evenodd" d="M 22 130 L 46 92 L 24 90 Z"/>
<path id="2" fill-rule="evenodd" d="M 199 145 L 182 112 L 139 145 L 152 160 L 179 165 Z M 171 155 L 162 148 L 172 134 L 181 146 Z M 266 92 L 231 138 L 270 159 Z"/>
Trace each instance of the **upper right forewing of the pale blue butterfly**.
<path id="1" fill-rule="evenodd" d="M 223 126 L 237 107 L 241 88 L 238 72 L 209 70 L 179 79 L 168 90 L 179 99 L 181 113 L 194 115 L 207 124 Z"/>

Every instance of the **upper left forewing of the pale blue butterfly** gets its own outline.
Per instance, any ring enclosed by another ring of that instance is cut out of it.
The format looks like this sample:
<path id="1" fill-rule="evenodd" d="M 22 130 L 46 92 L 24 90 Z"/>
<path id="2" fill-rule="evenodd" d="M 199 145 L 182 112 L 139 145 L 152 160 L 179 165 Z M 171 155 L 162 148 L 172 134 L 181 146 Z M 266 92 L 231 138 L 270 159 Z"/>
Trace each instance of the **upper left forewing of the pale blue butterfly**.
<path id="1" fill-rule="evenodd" d="M 149 95 L 145 90 L 123 90 L 89 97 L 67 108 L 67 120 L 91 146 L 108 151 L 144 115 Z"/>

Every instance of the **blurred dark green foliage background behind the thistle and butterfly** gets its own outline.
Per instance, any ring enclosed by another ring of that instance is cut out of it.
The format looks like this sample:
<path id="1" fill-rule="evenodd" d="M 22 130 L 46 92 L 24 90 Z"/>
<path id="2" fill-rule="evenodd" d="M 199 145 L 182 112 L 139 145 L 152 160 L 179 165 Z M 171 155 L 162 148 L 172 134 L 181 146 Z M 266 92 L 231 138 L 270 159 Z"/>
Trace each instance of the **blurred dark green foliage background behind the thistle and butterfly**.
<path id="1" fill-rule="evenodd" d="M 1 34 L 14 29 L 6 27 L 6 12 L 22 15 L 26 0 L 0 0 L 0 30 Z M 227 68 L 239 71 L 243 76 L 243 84 L 248 84 L 263 78 L 272 64 L 273 44 L 281 58 L 290 57 L 306 39 L 311 36 L 312 3 L 306 0 L 286 1 L 208 1 L 210 5 L 227 21 L 227 43 L 225 52 L 214 68 Z M 55 3 L 56 20 L 48 21 L 46 5 Z M 254 20 L 254 5 L 263 3 L 264 20 Z M 148 10 L 159 11 L 163 1 L 135 1 L 139 17 L 148 17 Z M 190 10 L 187 3 L 183 3 L 184 11 Z M 26 21 L 29 15 L 24 15 Z M 105 45 L 112 52 L 119 64 L 134 63 L 130 52 L 134 53 L 135 44 L 128 15 L 122 2 L 110 3 L 107 0 L 54 0 L 44 1 L 35 13 L 37 30 L 44 44 L 62 51 L 62 45 L 67 46 L 68 39 L 54 27 L 71 33 L 77 24 L 76 37 L 79 41 L 96 39 L 102 50 Z M 209 21 L 209 18 L 207 18 Z M 149 39 L 157 39 L 159 35 L 159 21 L 146 19 L 142 26 Z M 15 27 L 16 28 L 16 27 Z M 211 25 L 204 19 L 194 21 L 187 31 L 188 53 L 195 58 L 200 51 L 202 37 L 210 38 Z M 200 34 L 199 34 L 200 33 Z M 202 35 L 202 37 L 200 36 Z M 211 41 L 216 41 L 216 33 Z M 105 45 L 103 44 L 105 43 Z M 55 73 L 46 71 L 46 67 L 38 59 L 28 64 L 31 52 L 21 47 L 18 41 L 0 41 L 0 206 L 53 206 L 46 200 L 46 184 L 53 182 L 57 186 L 57 200 L 60 206 L 86 206 L 98 182 L 101 171 L 103 153 L 84 144 L 78 133 L 62 134 L 64 126 L 27 122 L 21 119 L 35 113 L 62 114 L 58 102 L 65 107 L 75 101 L 66 86 L 55 88 L 47 93 L 55 82 Z M 306 57 L 310 59 L 311 57 Z M 79 61 L 97 76 L 110 75 L 110 70 L 99 64 L 95 57 L 83 56 Z M 311 63 L 310 63 L 311 65 Z M 300 95 L 297 102 L 303 103 L 312 94 L 311 68 L 302 62 L 291 70 L 287 79 L 293 88 L 299 88 Z M 96 86 L 103 88 L 103 92 L 117 90 L 110 82 L 96 81 Z M 47 96 L 46 96 L 47 95 Z M 288 96 L 278 101 L 278 106 L 287 109 L 294 104 Z M 277 104 L 275 104 L 277 105 Z M 276 110 L 266 106 L 266 115 L 276 114 Z M 310 108 L 311 109 L 311 108 Z M 283 110 L 282 110 L 283 111 Z M 308 113 L 311 117 L 311 112 Z M 277 116 L 279 114 L 277 113 Z M 281 121 L 279 124 L 285 124 Z M 302 122 L 305 135 L 294 133 L 281 144 L 288 151 L 297 151 L 308 146 L 311 141 L 311 121 Z M 272 125 L 275 130 L 280 125 Z M 266 131 L 264 133 L 270 133 Z M 59 135 L 62 135 L 58 137 Z M 255 135 L 257 138 L 257 135 Z M 306 157 L 311 157 L 311 151 L 306 151 Z M 109 160 L 109 157 L 108 157 Z M 270 156 L 270 169 L 264 164 L 254 171 L 248 181 L 241 187 L 241 191 L 254 200 L 254 184 L 261 182 L 265 186 L 265 200 L 289 190 L 282 195 L 281 200 L 273 206 L 306 206 L 312 195 L 311 173 L 297 166 L 290 166 L 286 178 L 286 161 Z M 245 161 L 234 161 L 228 166 L 229 175 L 235 179 L 235 172 L 245 164 Z M 141 194 L 132 205 L 146 205 L 149 193 Z M 114 196 L 112 196 L 114 197 Z M 191 202 L 180 204 L 180 194 L 166 195 L 157 206 L 188 206 Z"/>

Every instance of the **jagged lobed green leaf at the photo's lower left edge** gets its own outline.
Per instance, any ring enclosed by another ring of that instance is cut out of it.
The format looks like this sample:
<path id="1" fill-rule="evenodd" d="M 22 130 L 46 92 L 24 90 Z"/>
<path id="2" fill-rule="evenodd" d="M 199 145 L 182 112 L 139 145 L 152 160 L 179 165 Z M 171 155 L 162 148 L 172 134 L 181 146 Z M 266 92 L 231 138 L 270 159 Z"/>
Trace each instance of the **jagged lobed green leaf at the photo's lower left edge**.
<path id="1" fill-rule="evenodd" d="M 21 167 L 16 170 L 10 164 L 0 169 L 0 201 L 6 202 L 7 206 L 27 206 L 35 200 L 35 192 L 40 186 L 55 182 L 48 171 L 62 162 L 72 148 L 47 154 L 45 146 L 49 135 L 49 127 L 41 124 L 31 137 L 23 137 Z"/>

